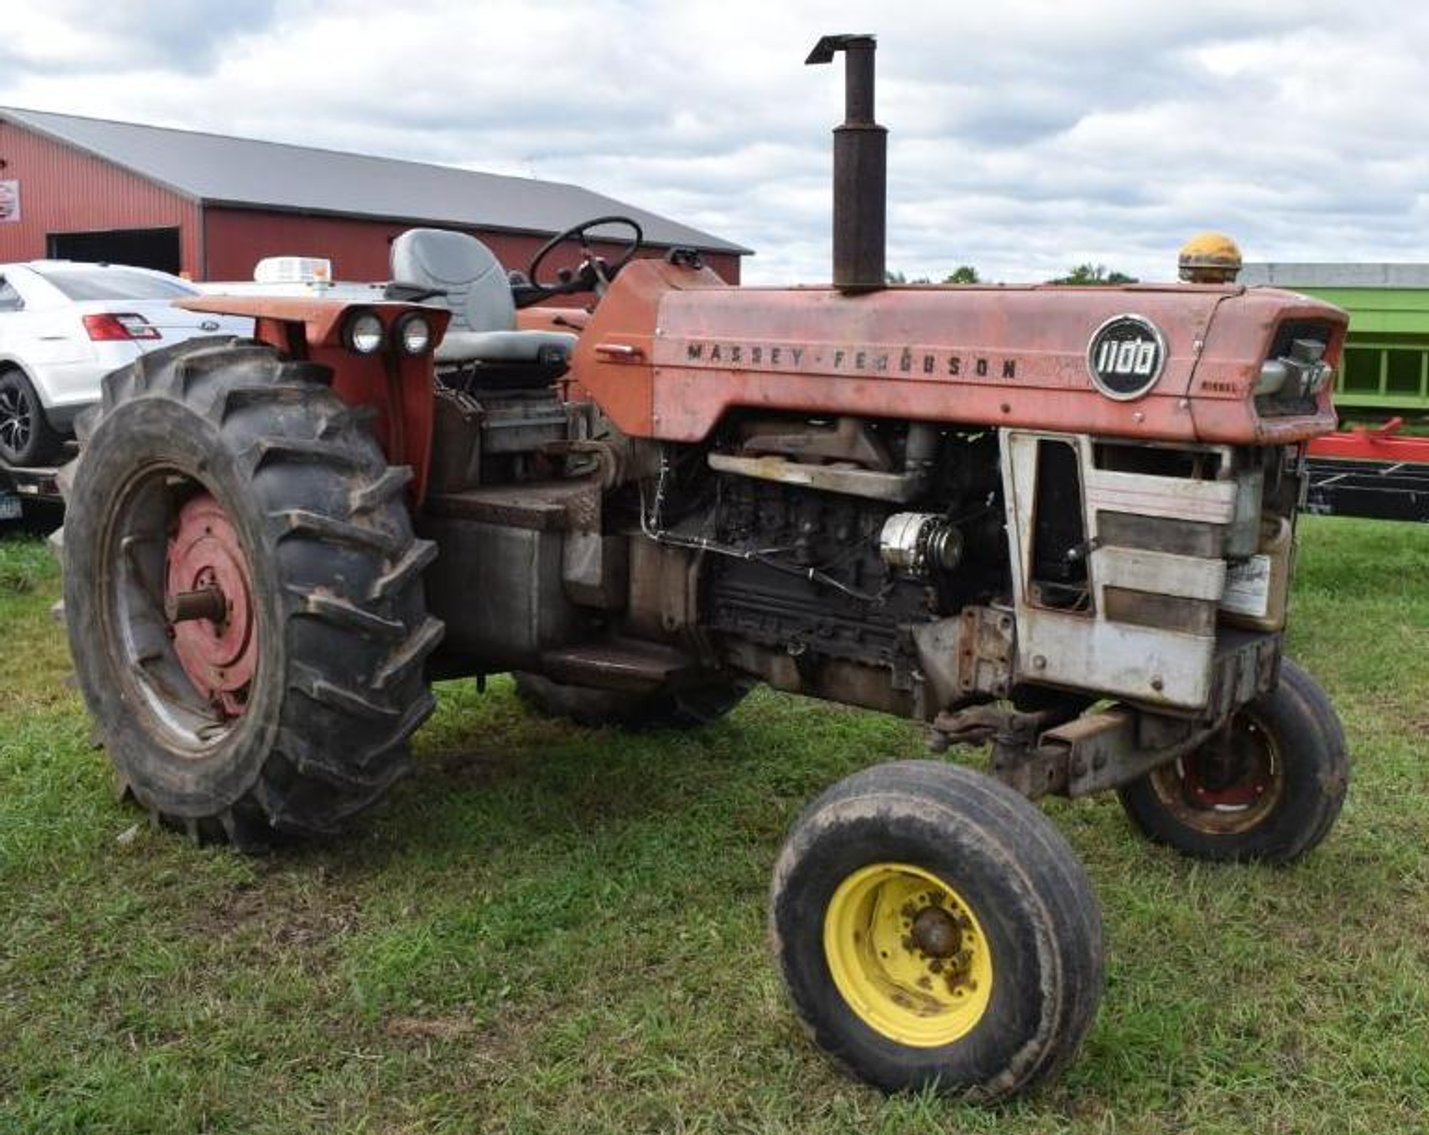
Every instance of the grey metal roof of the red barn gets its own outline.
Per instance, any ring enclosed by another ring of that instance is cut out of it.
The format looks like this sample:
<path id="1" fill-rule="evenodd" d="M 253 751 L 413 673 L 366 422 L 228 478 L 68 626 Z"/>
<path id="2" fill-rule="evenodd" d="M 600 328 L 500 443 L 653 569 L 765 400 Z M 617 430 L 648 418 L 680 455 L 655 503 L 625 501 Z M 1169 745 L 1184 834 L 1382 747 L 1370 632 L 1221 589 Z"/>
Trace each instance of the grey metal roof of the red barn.
<path id="1" fill-rule="evenodd" d="M 580 186 L 203 134 L 161 126 L 0 107 L 13 122 L 204 204 L 420 220 L 556 233 L 590 217 L 630 216 L 656 244 L 749 254 L 742 244 Z"/>

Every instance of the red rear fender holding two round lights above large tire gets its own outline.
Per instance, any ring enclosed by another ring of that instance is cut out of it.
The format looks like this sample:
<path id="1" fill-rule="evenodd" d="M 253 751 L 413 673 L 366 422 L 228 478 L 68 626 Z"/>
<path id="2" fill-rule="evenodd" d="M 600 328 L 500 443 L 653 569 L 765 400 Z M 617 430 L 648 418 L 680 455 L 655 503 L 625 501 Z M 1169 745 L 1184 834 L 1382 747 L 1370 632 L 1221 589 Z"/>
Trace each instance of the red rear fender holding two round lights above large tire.
<path id="1" fill-rule="evenodd" d="M 393 327 L 409 312 L 420 312 L 432 324 L 432 345 L 452 313 L 414 303 L 350 303 L 337 299 L 299 296 L 194 296 L 177 300 L 190 312 L 247 316 L 254 322 L 253 337 L 276 347 L 289 359 L 302 359 L 333 372 L 333 390 L 350 406 L 376 412 L 373 432 L 390 465 L 412 466 L 413 505 L 426 495 L 432 459 L 436 389 L 432 347 L 406 355 Z M 359 355 L 343 342 L 343 327 L 353 313 L 372 312 L 386 330 L 384 343 L 373 355 Z"/>

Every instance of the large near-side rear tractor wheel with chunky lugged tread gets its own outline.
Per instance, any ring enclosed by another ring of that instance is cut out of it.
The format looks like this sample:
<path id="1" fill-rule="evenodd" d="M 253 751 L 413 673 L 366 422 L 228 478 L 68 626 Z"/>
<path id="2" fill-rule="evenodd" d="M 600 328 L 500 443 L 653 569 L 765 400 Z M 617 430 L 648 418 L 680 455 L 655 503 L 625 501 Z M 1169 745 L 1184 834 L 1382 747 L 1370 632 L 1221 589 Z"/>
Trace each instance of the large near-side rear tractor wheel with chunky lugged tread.
<path id="1" fill-rule="evenodd" d="M 337 831 L 434 705 L 410 470 L 329 380 L 236 340 L 146 355 L 106 377 L 67 470 L 80 689 L 121 786 L 196 838 Z M 224 613 L 176 620 L 186 595 Z"/>

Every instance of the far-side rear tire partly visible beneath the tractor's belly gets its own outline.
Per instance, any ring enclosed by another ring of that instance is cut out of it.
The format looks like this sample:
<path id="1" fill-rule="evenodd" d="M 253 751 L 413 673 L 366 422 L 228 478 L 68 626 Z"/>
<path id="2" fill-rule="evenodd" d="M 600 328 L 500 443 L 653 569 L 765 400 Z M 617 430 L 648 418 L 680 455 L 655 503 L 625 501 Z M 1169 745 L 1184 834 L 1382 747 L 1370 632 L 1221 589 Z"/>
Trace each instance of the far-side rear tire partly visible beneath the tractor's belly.
<path id="1" fill-rule="evenodd" d="M 694 729 L 719 720 L 735 709 L 752 686 L 745 682 L 709 682 L 680 690 L 629 693 L 624 690 L 567 686 L 539 673 L 517 672 L 516 696 L 547 718 L 566 718 L 592 728 Z"/>

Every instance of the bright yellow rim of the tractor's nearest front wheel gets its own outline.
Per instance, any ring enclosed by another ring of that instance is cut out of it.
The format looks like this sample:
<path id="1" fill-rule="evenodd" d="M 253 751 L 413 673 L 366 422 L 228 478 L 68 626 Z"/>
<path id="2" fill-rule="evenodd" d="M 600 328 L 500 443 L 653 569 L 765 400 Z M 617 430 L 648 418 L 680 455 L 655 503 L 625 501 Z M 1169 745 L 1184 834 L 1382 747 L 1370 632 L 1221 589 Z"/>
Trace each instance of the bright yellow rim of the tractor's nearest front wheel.
<path id="1" fill-rule="evenodd" d="M 992 999 L 992 951 L 977 916 L 933 872 L 875 863 L 845 879 L 823 916 L 823 952 L 849 1008 L 915 1048 L 962 1039 Z"/>

